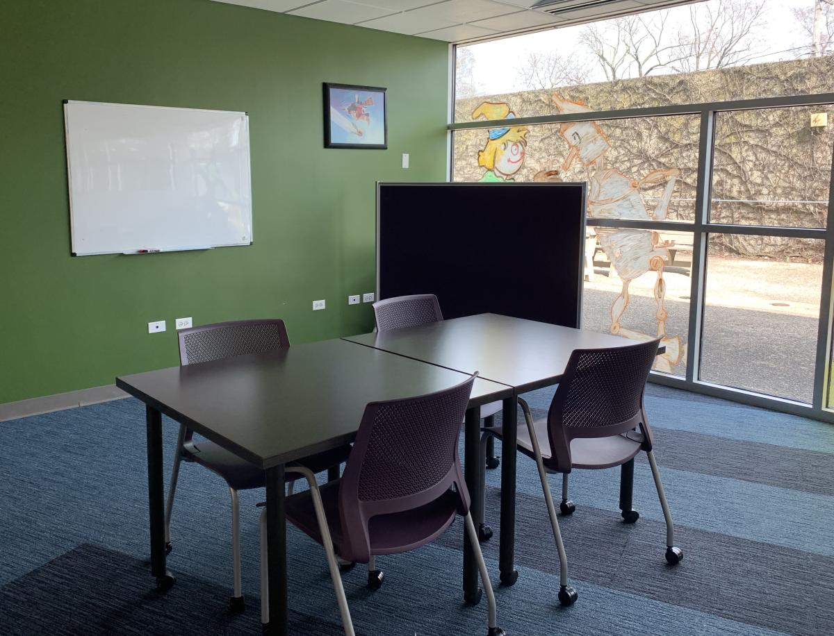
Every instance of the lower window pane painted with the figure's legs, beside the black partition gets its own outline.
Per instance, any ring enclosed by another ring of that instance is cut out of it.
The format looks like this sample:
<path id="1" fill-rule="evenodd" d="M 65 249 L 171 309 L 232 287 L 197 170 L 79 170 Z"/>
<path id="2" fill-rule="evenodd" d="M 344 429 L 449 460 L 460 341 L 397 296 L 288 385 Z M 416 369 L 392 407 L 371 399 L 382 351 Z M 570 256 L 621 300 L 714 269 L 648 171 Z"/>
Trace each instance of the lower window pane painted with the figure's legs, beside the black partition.
<path id="1" fill-rule="evenodd" d="M 686 374 L 692 233 L 588 228 L 582 327 L 663 337 L 655 370 Z"/>

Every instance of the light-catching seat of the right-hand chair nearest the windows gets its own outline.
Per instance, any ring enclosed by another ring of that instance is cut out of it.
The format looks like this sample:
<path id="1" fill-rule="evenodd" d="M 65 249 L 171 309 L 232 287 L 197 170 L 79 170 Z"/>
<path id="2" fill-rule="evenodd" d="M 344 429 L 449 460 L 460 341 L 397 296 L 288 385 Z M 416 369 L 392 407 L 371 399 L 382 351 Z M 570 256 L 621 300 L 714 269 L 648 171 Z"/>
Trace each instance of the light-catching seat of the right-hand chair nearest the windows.
<path id="1" fill-rule="evenodd" d="M 550 438 L 547 434 L 547 418 L 535 420 L 533 423 L 535 438 L 539 443 L 541 458 L 545 467 L 555 470 L 550 454 Z M 501 428 L 490 429 L 501 437 Z M 570 441 L 571 468 L 611 468 L 633 459 L 640 453 L 641 435 L 631 433 L 636 439 L 626 438 L 624 435 L 611 435 L 605 438 L 576 438 Z M 520 423 L 516 433 L 519 450 L 529 458 L 535 459 L 533 443 L 530 441 L 530 431 L 526 423 Z M 552 468 L 551 468 L 552 467 Z"/>

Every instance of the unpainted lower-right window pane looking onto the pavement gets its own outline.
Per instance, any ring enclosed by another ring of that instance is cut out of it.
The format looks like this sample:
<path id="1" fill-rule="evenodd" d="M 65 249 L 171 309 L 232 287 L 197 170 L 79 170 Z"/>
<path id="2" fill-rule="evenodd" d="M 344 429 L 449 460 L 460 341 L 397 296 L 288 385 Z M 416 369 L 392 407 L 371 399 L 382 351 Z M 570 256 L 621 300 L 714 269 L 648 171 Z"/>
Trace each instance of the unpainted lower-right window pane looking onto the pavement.
<path id="1" fill-rule="evenodd" d="M 711 234 L 707 245 L 701 379 L 810 403 L 824 241 Z"/>

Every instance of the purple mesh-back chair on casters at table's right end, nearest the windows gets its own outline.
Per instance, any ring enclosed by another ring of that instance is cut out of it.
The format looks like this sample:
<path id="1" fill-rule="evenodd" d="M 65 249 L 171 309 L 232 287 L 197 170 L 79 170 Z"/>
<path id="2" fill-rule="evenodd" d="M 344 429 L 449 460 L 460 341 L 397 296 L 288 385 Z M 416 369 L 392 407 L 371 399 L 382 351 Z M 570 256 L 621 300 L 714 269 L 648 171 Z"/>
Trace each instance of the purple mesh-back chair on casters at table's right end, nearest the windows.
<path id="1" fill-rule="evenodd" d="M 652 453 L 651 428 L 643 401 L 658 343 L 660 339 L 625 347 L 576 349 L 570 355 L 547 418 L 534 420 L 530 406 L 519 398 L 527 427 L 518 431 L 518 449 L 533 458 L 539 468 L 550 525 L 559 550 L 559 600 L 563 605 L 575 601 L 576 591 L 568 585 L 565 546 L 547 473 L 562 473 L 560 509 L 563 514 L 571 514 L 575 505 L 568 500 L 567 489 L 568 474 L 574 468 L 612 468 L 630 462 L 641 450 L 646 451 L 666 518 L 666 560 L 674 565 L 683 558 L 681 548 L 674 544 L 672 518 Z M 500 428 L 496 428 L 495 435 L 500 437 L 500 433 Z M 545 442 L 542 448 L 541 444 Z"/>

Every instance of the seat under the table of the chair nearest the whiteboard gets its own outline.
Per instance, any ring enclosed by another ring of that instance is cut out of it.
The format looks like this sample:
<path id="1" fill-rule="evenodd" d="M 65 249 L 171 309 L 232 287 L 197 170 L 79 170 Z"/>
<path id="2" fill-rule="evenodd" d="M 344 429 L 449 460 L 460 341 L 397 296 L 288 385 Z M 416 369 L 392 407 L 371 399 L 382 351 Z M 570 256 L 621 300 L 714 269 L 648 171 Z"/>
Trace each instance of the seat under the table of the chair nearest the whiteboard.
<path id="1" fill-rule="evenodd" d="M 300 459 L 297 463 L 309 468 L 314 473 L 321 473 L 331 466 L 346 461 L 350 454 L 350 448 L 352 448 L 350 444 L 344 444 L 339 448 Z M 266 485 L 263 470 L 208 440 L 195 443 L 187 448 L 184 458 L 187 461 L 197 462 L 219 474 L 235 490 L 263 488 Z"/>

